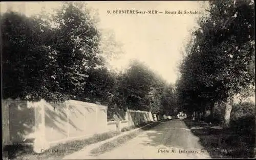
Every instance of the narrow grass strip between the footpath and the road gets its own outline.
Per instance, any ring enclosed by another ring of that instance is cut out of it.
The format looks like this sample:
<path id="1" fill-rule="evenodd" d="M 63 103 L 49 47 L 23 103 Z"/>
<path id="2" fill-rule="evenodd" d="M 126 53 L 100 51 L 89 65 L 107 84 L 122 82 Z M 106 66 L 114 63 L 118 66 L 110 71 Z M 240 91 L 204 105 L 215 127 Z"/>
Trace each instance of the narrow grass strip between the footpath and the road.
<path id="1" fill-rule="evenodd" d="M 168 120 L 168 119 L 167 119 Z M 163 121 L 167 121 L 167 120 L 163 120 Z M 121 136 L 111 142 L 107 142 L 107 143 L 104 143 L 102 144 L 101 146 L 97 147 L 97 148 L 94 148 L 93 150 L 90 151 L 90 154 L 92 156 L 97 156 L 97 155 L 100 155 L 102 153 L 105 153 L 105 152 L 108 152 L 108 151 L 111 151 L 112 149 L 120 146 L 121 144 L 125 143 L 126 141 L 128 140 L 131 140 L 133 138 L 135 138 L 136 136 L 138 136 L 138 134 L 140 134 L 141 132 L 143 132 L 144 130 L 148 130 L 150 128 L 153 128 L 154 126 L 160 124 L 161 122 L 158 121 L 158 122 L 153 122 L 153 123 L 150 123 L 149 125 L 141 128 L 141 129 L 138 129 L 134 132 L 132 132 L 131 134 L 127 134 L 125 136 Z"/>

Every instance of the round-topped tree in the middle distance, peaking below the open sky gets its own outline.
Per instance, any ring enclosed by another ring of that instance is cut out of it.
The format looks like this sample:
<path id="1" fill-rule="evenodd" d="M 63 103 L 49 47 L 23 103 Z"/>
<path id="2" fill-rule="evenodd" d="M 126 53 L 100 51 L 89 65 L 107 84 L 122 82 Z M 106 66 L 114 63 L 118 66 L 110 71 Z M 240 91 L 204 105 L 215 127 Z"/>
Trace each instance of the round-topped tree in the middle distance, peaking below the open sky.
<path id="1" fill-rule="evenodd" d="M 154 74 L 148 67 L 134 60 L 130 67 L 120 76 L 118 95 L 129 109 L 150 111 L 151 86 L 154 82 Z"/>

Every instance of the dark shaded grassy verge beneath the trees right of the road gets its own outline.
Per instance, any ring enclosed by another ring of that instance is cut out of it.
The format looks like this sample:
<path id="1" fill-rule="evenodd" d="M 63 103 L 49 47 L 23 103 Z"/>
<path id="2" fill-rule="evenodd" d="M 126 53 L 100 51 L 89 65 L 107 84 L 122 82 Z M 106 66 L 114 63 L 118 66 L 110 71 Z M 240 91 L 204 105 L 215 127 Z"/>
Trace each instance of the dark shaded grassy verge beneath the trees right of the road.
<path id="1" fill-rule="evenodd" d="M 184 120 L 193 134 L 212 158 L 252 158 L 255 156 L 255 136 L 249 136 L 232 129 L 215 129 L 199 122 Z"/>

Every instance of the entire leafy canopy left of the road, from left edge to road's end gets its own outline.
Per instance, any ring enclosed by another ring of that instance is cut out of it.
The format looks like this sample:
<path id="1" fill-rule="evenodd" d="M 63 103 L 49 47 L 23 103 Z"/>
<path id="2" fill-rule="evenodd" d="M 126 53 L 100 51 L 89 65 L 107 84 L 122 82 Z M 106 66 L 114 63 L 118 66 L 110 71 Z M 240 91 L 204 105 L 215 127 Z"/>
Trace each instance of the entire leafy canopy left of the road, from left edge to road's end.
<path id="1" fill-rule="evenodd" d="M 3 98 L 75 99 L 122 109 L 172 113 L 173 86 L 132 61 L 122 73 L 109 59 L 122 54 L 111 31 L 84 3 L 63 3 L 53 14 L 1 16 Z"/>

